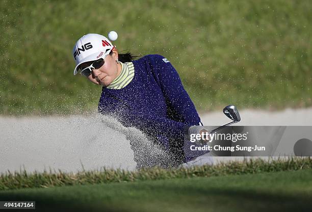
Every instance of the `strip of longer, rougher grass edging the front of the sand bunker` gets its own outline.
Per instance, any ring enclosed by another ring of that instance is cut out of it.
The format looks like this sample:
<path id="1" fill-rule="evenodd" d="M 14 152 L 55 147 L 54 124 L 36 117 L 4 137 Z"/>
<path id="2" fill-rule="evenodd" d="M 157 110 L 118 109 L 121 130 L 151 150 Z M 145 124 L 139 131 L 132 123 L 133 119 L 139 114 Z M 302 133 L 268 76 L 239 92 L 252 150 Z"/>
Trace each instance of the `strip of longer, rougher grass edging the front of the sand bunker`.
<path id="1" fill-rule="evenodd" d="M 312 169 L 312 157 L 289 157 L 277 160 L 252 159 L 242 162 L 219 163 L 214 166 L 195 166 L 178 169 L 142 169 L 139 171 L 126 171 L 103 169 L 100 171 L 82 171 L 78 173 L 65 173 L 45 171 L 43 173 L 28 173 L 20 171 L 5 173 L 0 176 L 0 191 L 22 188 L 50 188 L 58 186 L 74 186 L 97 183 L 132 182 L 158 179 L 211 177 L 224 175 L 243 175 L 263 172 L 277 172 Z"/>

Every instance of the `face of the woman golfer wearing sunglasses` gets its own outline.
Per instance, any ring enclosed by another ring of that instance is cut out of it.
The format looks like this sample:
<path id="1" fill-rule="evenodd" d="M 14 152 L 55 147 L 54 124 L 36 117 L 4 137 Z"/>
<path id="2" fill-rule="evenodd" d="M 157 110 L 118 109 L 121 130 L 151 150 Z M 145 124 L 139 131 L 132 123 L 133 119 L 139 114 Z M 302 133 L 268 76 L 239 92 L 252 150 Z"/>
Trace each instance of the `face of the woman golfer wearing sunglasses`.
<path id="1" fill-rule="evenodd" d="M 114 48 L 105 58 L 105 63 L 100 68 L 93 69 L 91 72 L 92 74 L 88 76 L 88 79 L 96 85 L 110 85 L 121 72 L 121 65 L 116 62 L 116 59 L 118 59 L 118 51 Z M 80 67 L 83 70 L 90 66 L 92 62 L 83 63 Z"/>

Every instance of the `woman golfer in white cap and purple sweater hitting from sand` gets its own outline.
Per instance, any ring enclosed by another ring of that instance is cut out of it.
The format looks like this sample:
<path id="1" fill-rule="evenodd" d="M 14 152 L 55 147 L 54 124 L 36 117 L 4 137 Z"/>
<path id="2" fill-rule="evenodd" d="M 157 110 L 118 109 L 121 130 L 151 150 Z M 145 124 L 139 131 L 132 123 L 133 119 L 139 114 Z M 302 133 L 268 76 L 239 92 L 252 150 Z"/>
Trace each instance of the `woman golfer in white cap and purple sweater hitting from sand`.
<path id="1" fill-rule="evenodd" d="M 194 159 L 185 155 L 184 133 L 198 133 L 201 122 L 170 61 L 160 55 L 132 60 L 98 34 L 80 38 L 73 57 L 74 75 L 80 72 L 102 86 L 99 113 L 143 131 L 174 155 L 175 165 Z"/>

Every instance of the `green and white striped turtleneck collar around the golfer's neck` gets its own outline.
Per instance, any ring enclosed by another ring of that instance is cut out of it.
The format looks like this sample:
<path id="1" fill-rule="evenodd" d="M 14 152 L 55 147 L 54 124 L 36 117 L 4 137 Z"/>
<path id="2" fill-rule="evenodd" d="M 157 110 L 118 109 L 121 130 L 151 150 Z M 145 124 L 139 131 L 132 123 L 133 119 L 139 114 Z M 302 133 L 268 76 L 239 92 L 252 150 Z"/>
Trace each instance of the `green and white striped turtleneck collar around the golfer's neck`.
<path id="1" fill-rule="evenodd" d="M 107 87 L 110 89 L 121 89 L 126 87 L 134 77 L 134 65 L 131 62 L 121 63 L 121 72 L 115 80 Z"/>

